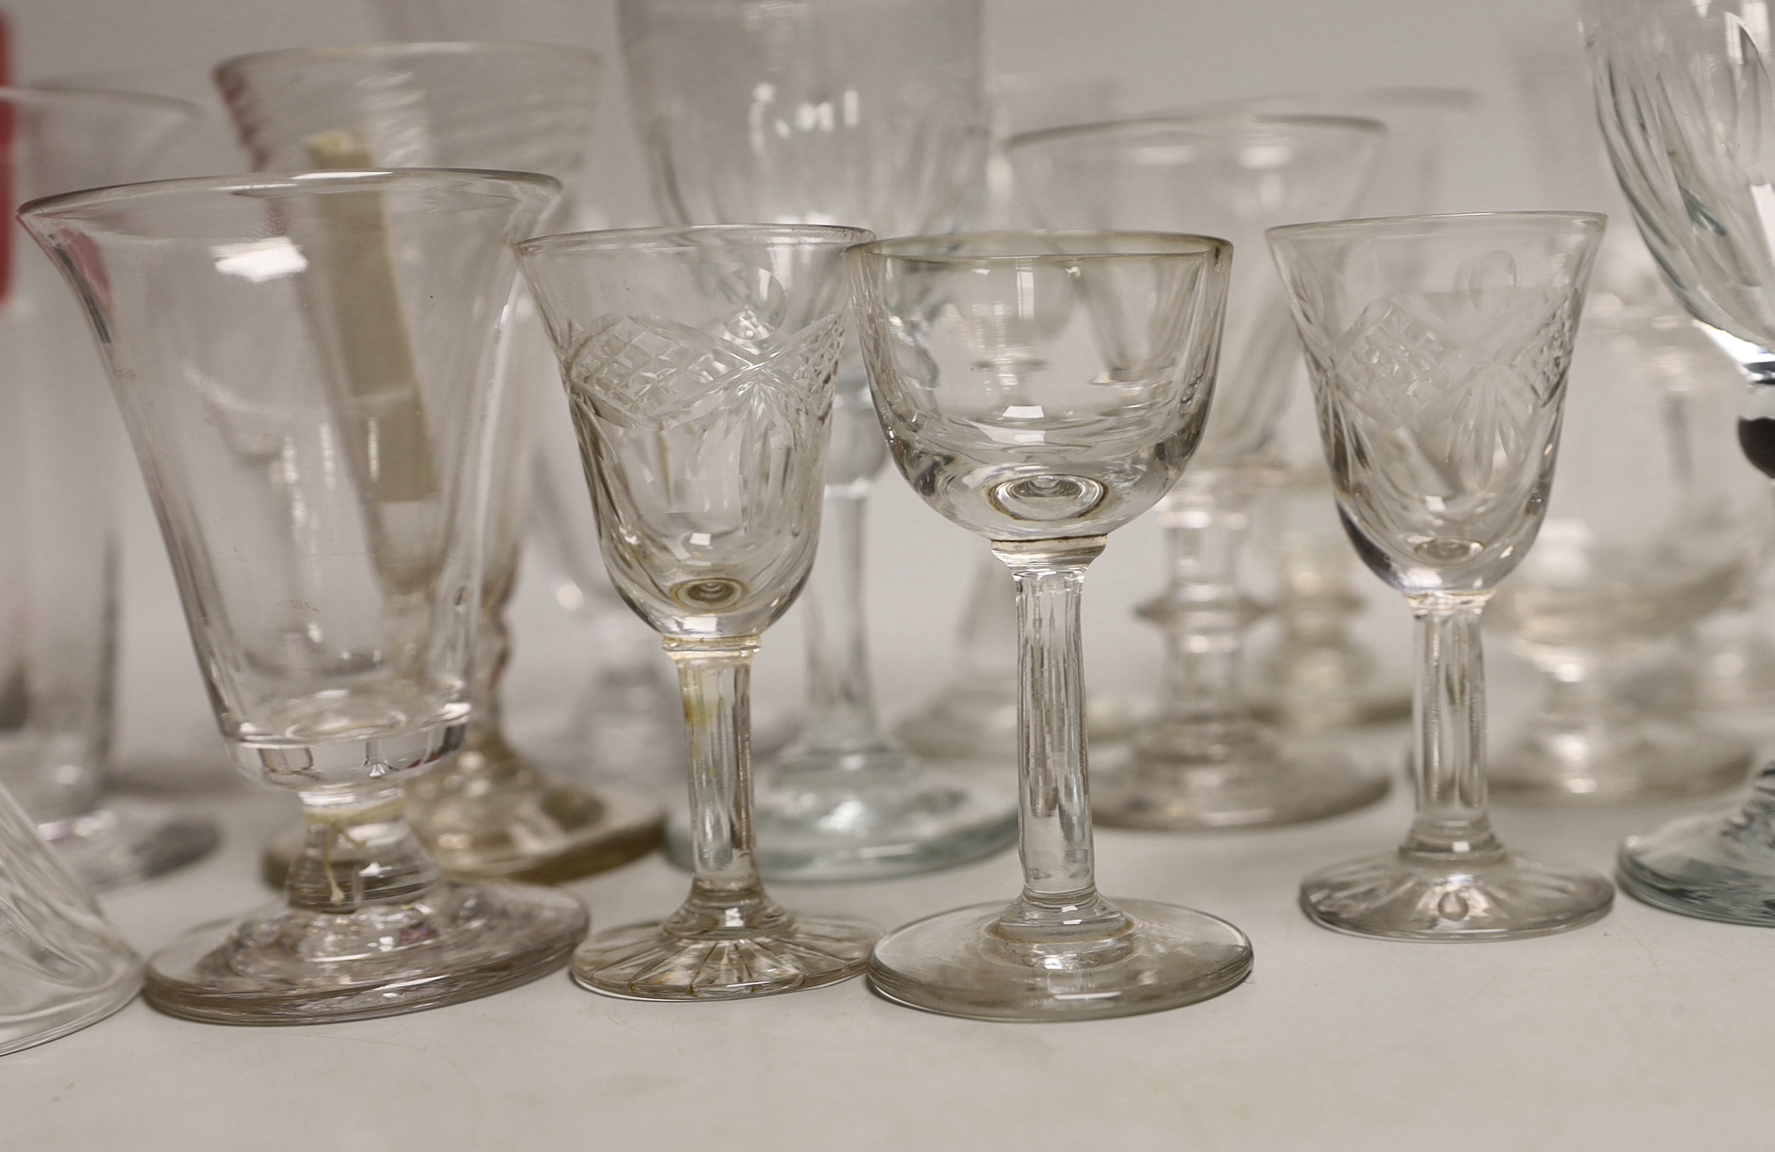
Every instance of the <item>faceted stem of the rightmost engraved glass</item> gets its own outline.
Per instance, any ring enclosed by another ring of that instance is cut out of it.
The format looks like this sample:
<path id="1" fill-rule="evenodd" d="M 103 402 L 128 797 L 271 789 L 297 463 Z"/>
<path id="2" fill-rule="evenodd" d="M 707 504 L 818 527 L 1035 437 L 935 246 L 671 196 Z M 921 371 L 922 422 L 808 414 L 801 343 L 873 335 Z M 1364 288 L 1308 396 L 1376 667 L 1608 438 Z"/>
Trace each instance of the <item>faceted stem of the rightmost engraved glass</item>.
<path id="1" fill-rule="evenodd" d="M 1411 596 L 1418 683 L 1411 699 L 1418 746 L 1418 809 L 1400 852 L 1496 859 L 1503 845 L 1486 817 L 1486 662 L 1479 614 L 1489 591 Z"/>

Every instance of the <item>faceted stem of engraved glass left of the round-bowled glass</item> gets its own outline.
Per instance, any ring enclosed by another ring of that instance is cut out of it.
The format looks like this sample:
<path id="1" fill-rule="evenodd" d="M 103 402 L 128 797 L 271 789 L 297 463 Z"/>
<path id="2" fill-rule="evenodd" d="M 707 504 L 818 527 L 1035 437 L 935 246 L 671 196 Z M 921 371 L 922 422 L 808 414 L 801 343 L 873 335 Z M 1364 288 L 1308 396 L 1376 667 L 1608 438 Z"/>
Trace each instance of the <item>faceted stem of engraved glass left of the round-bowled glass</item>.
<path id="1" fill-rule="evenodd" d="M 754 935 L 788 914 L 765 895 L 753 843 L 751 678 L 756 635 L 666 639 L 690 737 L 690 896 L 680 935 Z"/>

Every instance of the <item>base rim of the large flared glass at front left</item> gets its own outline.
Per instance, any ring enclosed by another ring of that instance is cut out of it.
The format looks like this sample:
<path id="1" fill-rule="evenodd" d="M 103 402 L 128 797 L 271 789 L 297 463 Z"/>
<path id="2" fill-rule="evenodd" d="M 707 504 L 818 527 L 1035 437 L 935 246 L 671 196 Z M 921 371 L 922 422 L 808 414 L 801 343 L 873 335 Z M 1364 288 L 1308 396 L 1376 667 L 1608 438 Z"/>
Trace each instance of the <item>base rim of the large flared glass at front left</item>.
<path id="1" fill-rule="evenodd" d="M 463 893 L 474 891 L 481 898 L 497 898 L 506 909 L 517 905 L 538 909 L 554 923 L 534 927 L 525 934 L 509 927 L 492 928 L 490 939 L 508 946 L 499 955 L 476 964 L 454 966 L 446 959 L 419 974 L 396 978 L 357 982 L 334 978 L 325 983 L 318 980 L 293 983 L 234 971 L 231 973 L 233 987 L 215 989 L 208 987 L 211 982 L 172 974 L 174 969 L 188 971 L 215 957 L 222 946 L 234 941 L 236 930 L 254 923 L 257 914 L 215 919 L 181 934 L 149 957 L 142 998 L 158 1012 L 206 1024 L 288 1026 L 405 1015 L 479 999 L 540 980 L 568 962 L 573 948 L 589 928 L 586 905 L 564 891 L 532 884 L 440 880 L 433 889 L 428 889 L 428 896 L 447 888 Z M 268 911 L 275 916 L 279 911 L 289 909 L 273 905 Z M 529 937 L 527 946 L 515 953 L 509 951 L 509 946 L 518 944 L 525 935 Z M 320 967 L 318 962 L 316 967 Z"/>

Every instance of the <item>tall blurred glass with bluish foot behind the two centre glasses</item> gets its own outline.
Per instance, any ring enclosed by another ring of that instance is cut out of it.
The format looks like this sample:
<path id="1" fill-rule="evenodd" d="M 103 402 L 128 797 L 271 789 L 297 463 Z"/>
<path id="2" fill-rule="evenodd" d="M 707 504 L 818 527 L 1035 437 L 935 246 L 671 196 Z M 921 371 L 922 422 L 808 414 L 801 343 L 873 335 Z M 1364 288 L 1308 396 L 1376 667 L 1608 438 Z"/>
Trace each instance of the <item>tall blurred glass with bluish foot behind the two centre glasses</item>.
<path id="1" fill-rule="evenodd" d="M 621 0 L 653 199 L 671 224 L 948 233 L 985 190 L 980 0 Z M 804 600 L 808 717 L 758 795 L 770 879 L 864 880 L 1010 847 L 1015 801 L 934 772 L 882 733 L 863 627 L 863 511 L 888 453 L 847 350 L 825 547 Z M 687 831 L 667 850 L 689 856 Z"/>

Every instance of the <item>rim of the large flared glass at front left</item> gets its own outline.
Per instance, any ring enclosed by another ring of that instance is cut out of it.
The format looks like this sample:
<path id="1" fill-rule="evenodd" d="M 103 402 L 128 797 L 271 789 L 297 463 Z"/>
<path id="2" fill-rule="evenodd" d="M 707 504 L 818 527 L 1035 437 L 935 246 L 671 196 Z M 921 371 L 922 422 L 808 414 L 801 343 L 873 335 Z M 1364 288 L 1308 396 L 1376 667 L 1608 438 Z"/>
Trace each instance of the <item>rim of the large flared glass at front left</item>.
<path id="1" fill-rule="evenodd" d="M 296 192 L 375 192 L 385 188 L 431 186 L 438 192 L 495 199 L 554 199 L 561 181 L 540 172 L 501 172 L 493 169 L 369 169 L 362 172 L 252 172 L 247 176 L 195 176 L 153 179 L 105 188 L 83 188 L 39 197 L 18 209 L 20 218 L 82 217 L 106 208 L 146 206 L 153 201 L 213 195 L 264 195 Z"/>

